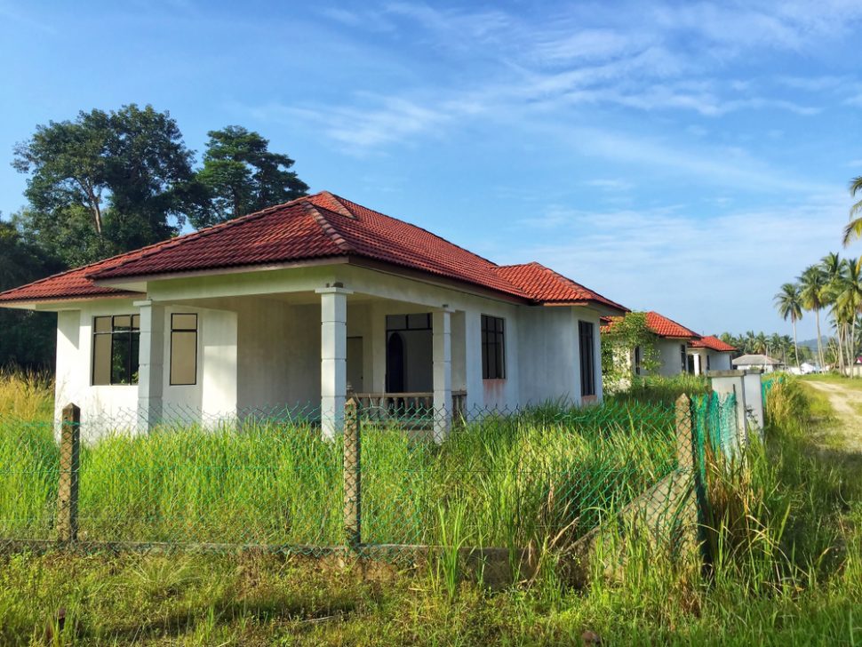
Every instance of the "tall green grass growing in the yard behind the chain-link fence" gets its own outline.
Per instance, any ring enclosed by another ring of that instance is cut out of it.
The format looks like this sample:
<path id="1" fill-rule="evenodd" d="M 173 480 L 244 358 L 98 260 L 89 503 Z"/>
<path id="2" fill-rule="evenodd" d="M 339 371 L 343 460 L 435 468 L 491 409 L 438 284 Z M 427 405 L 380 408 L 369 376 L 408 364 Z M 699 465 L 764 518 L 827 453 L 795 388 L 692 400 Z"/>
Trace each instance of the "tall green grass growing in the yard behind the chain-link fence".
<path id="1" fill-rule="evenodd" d="M 674 468 L 673 425 L 635 403 L 488 416 L 441 445 L 365 423 L 363 540 L 435 545 L 441 509 L 487 546 L 582 534 Z M 340 546 L 342 460 L 340 439 L 301 422 L 108 435 L 82 444 L 79 538 Z M 0 418 L 0 461 L 0 539 L 51 539 L 52 426 Z"/>

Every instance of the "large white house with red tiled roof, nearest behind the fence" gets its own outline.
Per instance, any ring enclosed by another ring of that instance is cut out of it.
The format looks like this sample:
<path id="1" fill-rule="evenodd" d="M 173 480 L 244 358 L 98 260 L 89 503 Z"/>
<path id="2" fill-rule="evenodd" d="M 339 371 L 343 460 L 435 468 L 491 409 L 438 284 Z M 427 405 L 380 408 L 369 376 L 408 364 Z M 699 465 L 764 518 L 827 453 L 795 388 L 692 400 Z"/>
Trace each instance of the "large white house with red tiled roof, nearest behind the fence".
<path id="1" fill-rule="evenodd" d="M 58 313 L 56 406 L 235 417 L 348 385 L 453 408 L 601 400 L 600 316 L 623 308 L 538 263 L 499 266 L 323 192 L 0 294 Z"/>

